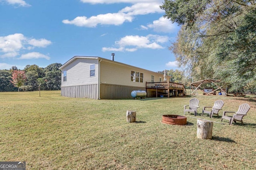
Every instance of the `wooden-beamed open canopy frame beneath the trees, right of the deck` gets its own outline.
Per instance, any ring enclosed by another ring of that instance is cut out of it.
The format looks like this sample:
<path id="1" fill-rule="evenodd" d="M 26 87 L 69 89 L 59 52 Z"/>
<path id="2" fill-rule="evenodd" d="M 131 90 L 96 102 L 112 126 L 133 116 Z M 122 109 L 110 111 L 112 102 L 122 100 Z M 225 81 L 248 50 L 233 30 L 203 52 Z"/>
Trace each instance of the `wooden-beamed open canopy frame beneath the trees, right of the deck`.
<path id="1" fill-rule="evenodd" d="M 226 90 L 223 90 L 222 89 L 222 86 L 218 86 L 218 82 L 220 82 L 220 80 L 216 80 L 216 79 L 204 79 L 204 80 L 199 80 L 199 81 L 196 81 L 196 82 L 192 82 L 190 83 L 190 86 L 191 88 L 194 87 L 195 89 L 193 90 L 192 94 L 195 95 L 196 94 L 196 91 L 197 90 L 200 90 L 202 92 L 204 92 L 203 90 L 201 90 L 199 87 L 202 85 L 202 84 L 206 84 L 206 83 L 213 83 L 215 84 L 215 86 L 217 86 L 218 88 L 216 88 L 215 90 L 213 90 L 212 92 L 206 94 L 206 95 L 209 95 L 209 94 L 213 94 L 215 91 L 221 89 L 222 92 L 225 92 L 226 93 Z M 193 89 L 193 88 L 192 88 Z"/>

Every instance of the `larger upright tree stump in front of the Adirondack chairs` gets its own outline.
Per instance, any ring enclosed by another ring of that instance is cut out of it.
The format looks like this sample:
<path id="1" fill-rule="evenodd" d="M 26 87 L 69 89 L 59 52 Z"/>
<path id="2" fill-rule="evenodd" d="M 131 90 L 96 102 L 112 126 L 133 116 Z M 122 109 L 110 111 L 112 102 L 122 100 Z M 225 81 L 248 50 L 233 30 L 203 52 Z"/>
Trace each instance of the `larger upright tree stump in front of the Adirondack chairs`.
<path id="1" fill-rule="evenodd" d="M 203 121 L 197 119 L 197 134 L 196 137 L 199 139 L 212 139 L 212 121 Z"/>

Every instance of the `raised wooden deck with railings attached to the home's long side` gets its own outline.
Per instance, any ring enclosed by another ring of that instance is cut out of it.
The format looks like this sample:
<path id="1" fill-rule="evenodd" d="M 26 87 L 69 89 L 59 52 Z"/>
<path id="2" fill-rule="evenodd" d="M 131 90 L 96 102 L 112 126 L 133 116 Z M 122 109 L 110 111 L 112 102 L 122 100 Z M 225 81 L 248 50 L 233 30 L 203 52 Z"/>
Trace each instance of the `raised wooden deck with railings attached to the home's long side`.
<path id="1" fill-rule="evenodd" d="M 176 96 L 178 97 L 180 94 L 182 96 L 186 95 L 186 89 L 183 84 L 175 83 L 175 82 L 146 82 L 146 91 L 148 94 L 149 90 L 154 90 L 155 96 L 158 97 L 160 95 L 167 96 Z M 152 96 L 148 96 L 152 97 Z"/>

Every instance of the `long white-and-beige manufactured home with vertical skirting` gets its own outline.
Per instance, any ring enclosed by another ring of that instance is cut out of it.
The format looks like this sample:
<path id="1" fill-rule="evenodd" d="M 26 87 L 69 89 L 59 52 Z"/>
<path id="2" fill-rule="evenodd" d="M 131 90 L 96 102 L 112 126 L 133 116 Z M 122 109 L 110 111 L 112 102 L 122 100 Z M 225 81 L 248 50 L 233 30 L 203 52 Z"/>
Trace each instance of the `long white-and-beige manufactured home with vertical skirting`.
<path id="1" fill-rule="evenodd" d="M 164 80 L 163 74 L 101 57 L 75 56 L 60 69 L 61 95 L 72 98 L 132 98 L 133 90 L 145 90 L 147 97 L 155 97 L 152 84 L 149 89 L 146 84 Z M 166 78 L 170 80 L 170 76 Z M 163 91 L 159 90 L 158 94 Z"/>

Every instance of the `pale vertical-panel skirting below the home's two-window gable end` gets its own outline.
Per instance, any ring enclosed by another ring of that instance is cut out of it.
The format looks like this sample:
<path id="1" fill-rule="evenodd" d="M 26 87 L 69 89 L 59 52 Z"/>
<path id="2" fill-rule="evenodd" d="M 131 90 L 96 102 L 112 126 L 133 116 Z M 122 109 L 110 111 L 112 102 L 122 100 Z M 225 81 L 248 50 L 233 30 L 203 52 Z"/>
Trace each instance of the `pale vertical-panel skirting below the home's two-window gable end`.
<path id="1" fill-rule="evenodd" d="M 97 84 L 61 87 L 61 96 L 97 99 Z"/>

